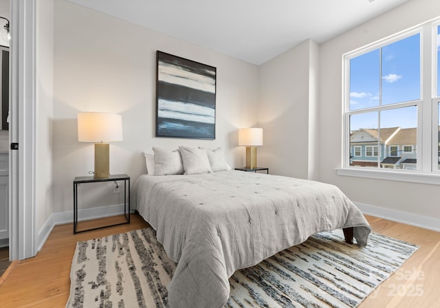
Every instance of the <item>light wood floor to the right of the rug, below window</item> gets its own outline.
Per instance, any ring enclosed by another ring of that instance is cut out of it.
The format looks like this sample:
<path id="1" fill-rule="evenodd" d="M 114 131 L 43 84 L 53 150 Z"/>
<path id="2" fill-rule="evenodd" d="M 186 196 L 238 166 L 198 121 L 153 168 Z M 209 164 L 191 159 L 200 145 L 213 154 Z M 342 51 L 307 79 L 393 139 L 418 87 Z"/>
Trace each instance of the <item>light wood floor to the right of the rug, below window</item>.
<path id="1" fill-rule="evenodd" d="M 440 307 L 440 232 L 366 216 L 373 232 L 419 245 L 419 250 L 359 308 Z"/>

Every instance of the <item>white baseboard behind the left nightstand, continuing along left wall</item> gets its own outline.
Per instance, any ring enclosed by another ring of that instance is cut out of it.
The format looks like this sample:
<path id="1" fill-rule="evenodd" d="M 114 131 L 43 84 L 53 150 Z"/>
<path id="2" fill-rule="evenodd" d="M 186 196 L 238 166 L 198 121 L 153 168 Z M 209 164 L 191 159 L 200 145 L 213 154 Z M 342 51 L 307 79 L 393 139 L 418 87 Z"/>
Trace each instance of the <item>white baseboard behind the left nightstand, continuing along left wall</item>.
<path id="1" fill-rule="evenodd" d="M 134 212 L 134 210 L 131 210 Z M 99 208 L 86 208 L 83 210 L 78 210 L 78 221 L 85 221 L 96 218 L 110 217 L 119 214 L 124 214 L 124 204 L 114 205 L 114 206 L 102 206 Z M 50 215 L 50 217 L 46 220 L 43 227 L 39 230 L 38 236 L 38 251 L 43 248 L 44 243 L 49 237 L 50 232 L 54 229 L 55 225 L 63 225 L 65 223 L 73 223 L 74 222 L 74 211 L 67 210 L 65 212 L 54 212 Z M 72 228 L 72 233 L 74 229 Z"/>

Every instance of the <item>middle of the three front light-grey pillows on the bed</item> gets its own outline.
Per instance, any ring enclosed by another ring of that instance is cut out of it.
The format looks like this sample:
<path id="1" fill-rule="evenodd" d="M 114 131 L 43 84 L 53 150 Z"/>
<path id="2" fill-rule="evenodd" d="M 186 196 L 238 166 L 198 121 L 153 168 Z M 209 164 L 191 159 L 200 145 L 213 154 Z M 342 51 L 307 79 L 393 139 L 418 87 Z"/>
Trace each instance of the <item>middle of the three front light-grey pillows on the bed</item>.
<path id="1" fill-rule="evenodd" d="M 185 175 L 197 175 L 212 172 L 208 154 L 204 148 L 188 148 L 179 146 L 181 161 L 184 164 Z"/>

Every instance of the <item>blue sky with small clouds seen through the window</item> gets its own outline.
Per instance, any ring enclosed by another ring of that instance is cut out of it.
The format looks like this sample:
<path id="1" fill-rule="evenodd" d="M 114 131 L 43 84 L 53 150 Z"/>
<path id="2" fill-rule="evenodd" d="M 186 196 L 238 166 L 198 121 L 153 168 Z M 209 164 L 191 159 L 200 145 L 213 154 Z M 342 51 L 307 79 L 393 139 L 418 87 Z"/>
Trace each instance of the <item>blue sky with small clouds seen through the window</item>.
<path id="1" fill-rule="evenodd" d="M 439 30 L 440 34 L 440 30 Z M 350 61 L 350 110 L 407 102 L 420 98 L 420 34 L 409 36 L 382 49 L 373 50 Z M 382 72 L 380 58 L 382 56 Z M 351 130 L 377 129 L 378 114 L 353 115 Z M 380 127 L 417 126 L 417 109 L 406 107 L 382 111 Z"/>

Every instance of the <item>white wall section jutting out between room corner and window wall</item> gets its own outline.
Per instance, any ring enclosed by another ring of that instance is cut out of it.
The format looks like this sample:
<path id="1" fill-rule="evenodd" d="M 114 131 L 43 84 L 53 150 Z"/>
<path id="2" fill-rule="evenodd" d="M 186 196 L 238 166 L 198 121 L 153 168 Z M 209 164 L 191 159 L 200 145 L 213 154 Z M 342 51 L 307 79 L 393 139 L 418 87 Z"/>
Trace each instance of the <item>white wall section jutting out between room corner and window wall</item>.
<path id="1" fill-rule="evenodd" d="M 318 51 L 307 40 L 260 67 L 259 165 L 272 174 L 318 178 Z"/>

